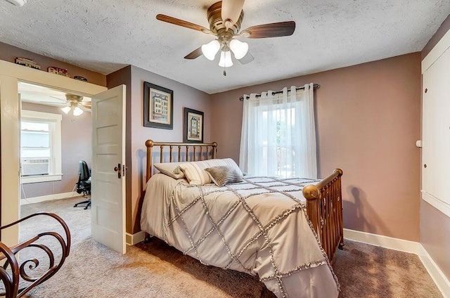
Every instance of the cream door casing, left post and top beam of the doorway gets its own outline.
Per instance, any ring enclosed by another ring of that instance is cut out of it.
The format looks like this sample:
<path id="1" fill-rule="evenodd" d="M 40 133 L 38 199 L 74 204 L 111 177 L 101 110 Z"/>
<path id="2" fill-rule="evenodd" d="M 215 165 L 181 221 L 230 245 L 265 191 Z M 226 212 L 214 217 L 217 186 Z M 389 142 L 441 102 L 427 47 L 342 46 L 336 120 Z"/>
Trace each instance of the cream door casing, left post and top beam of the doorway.
<path id="1" fill-rule="evenodd" d="M 27 82 L 51 89 L 92 96 L 106 91 L 97 86 L 77 81 L 57 74 L 33 70 L 0 60 L 0 120 L 1 120 L 1 225 L 4 226 L 20 218 L 20 148 L 19 119 L 20 101 L 18 83 Z M 1 233 L 1 241 L 13 246 L 18 243 L 19 228 L 13 226 Z"/>

